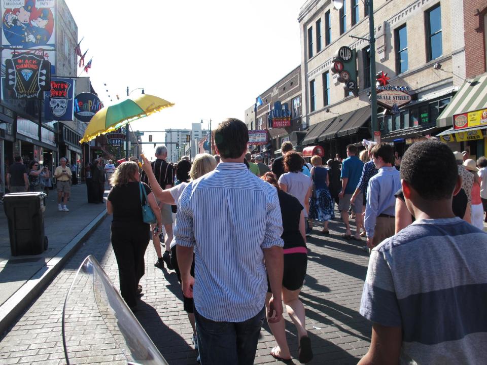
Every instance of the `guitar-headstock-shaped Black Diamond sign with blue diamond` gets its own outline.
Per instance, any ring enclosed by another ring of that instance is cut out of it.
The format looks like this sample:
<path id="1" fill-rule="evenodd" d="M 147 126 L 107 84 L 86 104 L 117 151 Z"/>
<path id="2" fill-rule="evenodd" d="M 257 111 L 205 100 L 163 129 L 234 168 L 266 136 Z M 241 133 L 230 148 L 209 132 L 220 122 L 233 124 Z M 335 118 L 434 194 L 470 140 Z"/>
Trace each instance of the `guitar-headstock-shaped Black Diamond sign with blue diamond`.
<path id="1" fill-rule="evenodd" d="M 51 88 L 51 64 L 34 54 L 20 54 L 5 60 L 7 89 L 16 99 L 39 99 Z"/>

